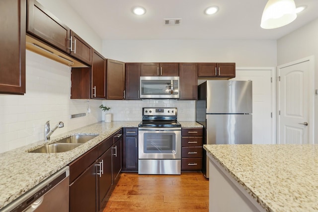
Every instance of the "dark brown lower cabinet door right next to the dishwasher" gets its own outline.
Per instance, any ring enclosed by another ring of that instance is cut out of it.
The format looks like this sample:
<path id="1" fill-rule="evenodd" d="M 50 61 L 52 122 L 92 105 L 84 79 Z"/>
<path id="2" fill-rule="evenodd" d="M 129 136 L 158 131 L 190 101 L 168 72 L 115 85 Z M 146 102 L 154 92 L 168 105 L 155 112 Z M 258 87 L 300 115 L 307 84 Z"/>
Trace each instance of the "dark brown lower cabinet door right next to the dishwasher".
<path id="1" fill-rule="evenodd" d="M 96 164 L 70 185 L 70 212 L 96 212 Z"/>

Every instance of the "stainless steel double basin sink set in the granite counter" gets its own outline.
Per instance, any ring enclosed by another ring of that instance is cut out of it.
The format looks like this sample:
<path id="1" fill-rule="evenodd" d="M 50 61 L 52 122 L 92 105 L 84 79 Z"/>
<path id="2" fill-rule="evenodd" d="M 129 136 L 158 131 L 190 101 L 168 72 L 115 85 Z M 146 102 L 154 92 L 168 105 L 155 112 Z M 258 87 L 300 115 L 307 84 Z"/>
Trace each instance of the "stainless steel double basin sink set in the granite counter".
<path id="1" fill-rule="evenodd" d="M 58 152 L 65 152 L 75 149 L 79 145 L 94 139 L 96 135 L 76 135 L 70 136 L 59 141 L 56 141 L 51 144 L 47 144 L 31 150 L 29 152 L 33 153 L 58 153 Z"/>

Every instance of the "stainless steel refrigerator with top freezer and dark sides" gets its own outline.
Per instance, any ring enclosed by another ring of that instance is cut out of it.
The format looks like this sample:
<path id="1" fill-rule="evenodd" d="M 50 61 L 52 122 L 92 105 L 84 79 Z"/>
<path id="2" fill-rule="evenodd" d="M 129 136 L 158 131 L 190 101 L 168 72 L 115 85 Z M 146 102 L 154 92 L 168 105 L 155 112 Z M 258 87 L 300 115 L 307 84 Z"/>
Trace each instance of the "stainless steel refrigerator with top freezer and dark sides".
<path id="1" fill-rule="evenodd" d="M 252 81 L 207 80 L 198 86 L 196 121 L 204 144 L 252 143 Z M 203 152 L 203 174 L 209 162 Z"/>

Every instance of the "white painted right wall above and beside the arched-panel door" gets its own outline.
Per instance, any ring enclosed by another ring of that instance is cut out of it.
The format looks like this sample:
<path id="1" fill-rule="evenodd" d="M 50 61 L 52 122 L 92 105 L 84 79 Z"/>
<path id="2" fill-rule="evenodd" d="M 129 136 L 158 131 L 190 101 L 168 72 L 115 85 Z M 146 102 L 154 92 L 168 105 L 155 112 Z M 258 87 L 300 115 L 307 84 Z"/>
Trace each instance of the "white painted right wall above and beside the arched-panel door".
<path id="1" fill-rule="evenodd" d="M 315 89 L 318 89 L 318 19 L 277 40 L 277 65 L 315 57 Z M 314 95 L 314 91 L 311 91 Z M 318 96 L 315 95 L 315 130 L 318 132 Z M 318 133 L 314 141 L 318 142 Z"/>

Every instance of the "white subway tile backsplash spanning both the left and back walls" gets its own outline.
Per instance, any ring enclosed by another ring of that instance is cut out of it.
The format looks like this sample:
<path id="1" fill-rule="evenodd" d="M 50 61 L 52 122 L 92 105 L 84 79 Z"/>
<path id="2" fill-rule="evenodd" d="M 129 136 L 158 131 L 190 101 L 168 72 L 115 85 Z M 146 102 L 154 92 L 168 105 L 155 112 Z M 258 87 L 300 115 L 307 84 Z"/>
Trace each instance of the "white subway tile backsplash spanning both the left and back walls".
<path id="1" fill-rule="evenodd" d="M 176 107 L 178 121 L 195 121 L 195 101 L 184 100 L 87 100 L 70 99 L 71 69 L 30 51 L 26 51 L 26 93 L 0 94 L 0 153 L 44 140 L 44 125 L 51 128 L 59 121 L 62 133 L 104 120 L 98 107 L 111 107 L 113 121 L 141 121 L 143 107 Z M 90 108 L 90 113 L 87 109 Z M 79 118 L 71 115 L 85 113 Z"/>

